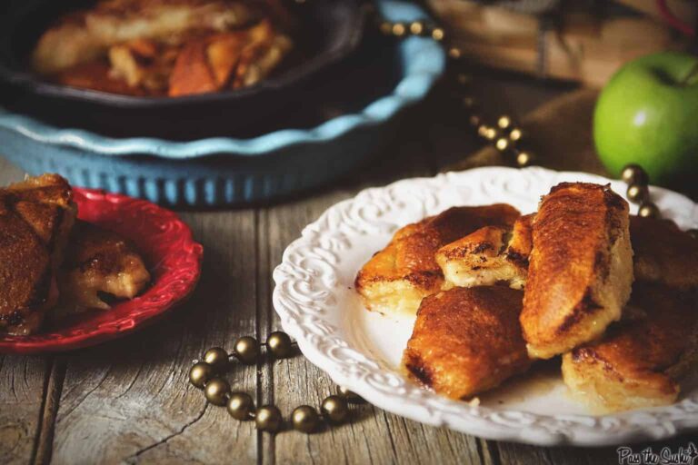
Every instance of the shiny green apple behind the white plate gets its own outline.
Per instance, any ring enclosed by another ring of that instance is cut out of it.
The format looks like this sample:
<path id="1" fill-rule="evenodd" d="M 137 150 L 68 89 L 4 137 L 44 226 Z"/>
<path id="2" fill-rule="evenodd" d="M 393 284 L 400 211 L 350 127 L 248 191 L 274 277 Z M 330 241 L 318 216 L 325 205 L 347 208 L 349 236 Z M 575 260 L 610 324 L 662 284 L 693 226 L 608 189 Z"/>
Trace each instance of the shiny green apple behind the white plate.
<path id="1" fill-rule="evenodd" d="M 596 103 L 593 141 L 614 175 L 628 163 L 651 183 L 698 173 L 698 57 L 664 52 L 623 65 Z"/>

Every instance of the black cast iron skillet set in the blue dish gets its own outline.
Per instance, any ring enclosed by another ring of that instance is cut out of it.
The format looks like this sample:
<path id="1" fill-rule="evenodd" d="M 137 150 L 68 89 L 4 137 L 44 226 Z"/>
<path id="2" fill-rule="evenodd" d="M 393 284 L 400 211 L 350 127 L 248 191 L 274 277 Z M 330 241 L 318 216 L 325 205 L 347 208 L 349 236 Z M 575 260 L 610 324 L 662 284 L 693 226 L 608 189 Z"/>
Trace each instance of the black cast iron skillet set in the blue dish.
<path id="1" fill-rule="evenodd" d="M 288 0 L 293 3 L 293 0 Z M 361 42 L 364 14 L 357 0 L 294 6 L 296 54 L 276 74 L 252 87 L 183 97 L 135 97 L 51 84 L 31 72 L 28 57 L 58 15 L 89 5 L 55 0 L 5 0 L 0 15 L 0 104 L 50 124 L 117 136 L 187 140 L 244 136 L 272 122 L 284 107 L 304 103 L 310 76 L 331 71 Z"/>

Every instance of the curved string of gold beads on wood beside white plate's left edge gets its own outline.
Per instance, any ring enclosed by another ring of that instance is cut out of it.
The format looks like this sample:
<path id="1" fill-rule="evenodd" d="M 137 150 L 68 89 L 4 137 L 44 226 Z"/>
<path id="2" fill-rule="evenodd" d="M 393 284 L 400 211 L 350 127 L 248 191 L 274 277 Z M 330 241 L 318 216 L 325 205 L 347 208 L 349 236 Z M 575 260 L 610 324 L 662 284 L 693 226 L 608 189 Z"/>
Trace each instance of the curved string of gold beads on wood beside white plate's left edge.
<path id="1" fill-rule="evenodd" d="M 252 365 L 260 360 L 260 347 L 274 359 L 287 359 L 294 353 L 295 342 L 283 331 L 269 334 L 264 344 L 252 336 L 243 336 L 234 342 L 233 353 L 228 354 L 221 347 L 212 347 L 204 352 L 201 361 L 194 361 L 189 370 L 189 381 L 194 387 L 204 391 L 208 403 L 225 407 L 235 420 L 254 420 L 257 430 L 270 433 L 282 430 L 284 417 L 274 405 L 254 408 L 252 396 L 246 392 L 233 391 L 230 383 L 221 375 L 230 367 L 233 359 Z M 318 412 L 310 405 L 296 407 L 291 413 L 290 425 L 294 430 L 312 433 L 318 430 L 324 420 L 327 424 L 340 424 L 349 418 L 349 403 L 362 402 L 363 399 L 344 387 L 337 389 L 338 395 L 326 397 Z"/>

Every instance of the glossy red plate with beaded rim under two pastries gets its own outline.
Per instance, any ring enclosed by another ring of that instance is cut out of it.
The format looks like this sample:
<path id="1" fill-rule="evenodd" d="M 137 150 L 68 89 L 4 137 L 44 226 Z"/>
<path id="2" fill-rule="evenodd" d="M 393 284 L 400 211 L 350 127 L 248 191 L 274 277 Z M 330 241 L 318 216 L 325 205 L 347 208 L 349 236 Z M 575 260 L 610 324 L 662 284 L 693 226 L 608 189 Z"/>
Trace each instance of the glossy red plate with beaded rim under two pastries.
<path id="1" fill-rule="evenodd" d="M 0 353 L 70 351 L 135 331 L 187 297 L 201 274 L 204 248 L 175 213 L 125 195 L 75 188 L 78 217 L 135 242 L 152 285 L 107 311 L 84 312 L 32 336 L 0 336 Z"/>

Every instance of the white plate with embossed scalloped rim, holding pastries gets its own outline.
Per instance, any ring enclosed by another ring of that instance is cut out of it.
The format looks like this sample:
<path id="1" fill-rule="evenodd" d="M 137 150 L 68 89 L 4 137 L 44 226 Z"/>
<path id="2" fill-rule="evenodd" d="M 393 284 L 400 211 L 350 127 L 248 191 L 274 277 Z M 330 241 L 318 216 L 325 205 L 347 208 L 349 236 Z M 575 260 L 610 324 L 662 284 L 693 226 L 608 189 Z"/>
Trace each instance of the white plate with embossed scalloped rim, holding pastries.
<path id="1" fill-rule="evenodd" d="M 533 167 L 479 168 L 367 189 L 337 203 L 288 246 L 274 270 L 274 308 L 284 331 L 334 382 L 386 411 L 493 440 L 540 445 L 626 444 L 668 438 L 698 428 L 698 389 L 668 407 L 593 415 L 574 401 L 559 371 L 523 376 L 483 396 L 479 406 L 451 401 L 408 381 L 399 361 L 414 318 L 366 312 L 354 276 L 394 231 L 454 205 L 511 203 L 536 210 L 541 195 L 562 181 L 622 182 L 587 173 Z M 698 227 L 698 205 L 678 193 L 651 189 L 663 215 L 682 228 Z M 631 204 L 631 213 L 636 213 Z"/>

